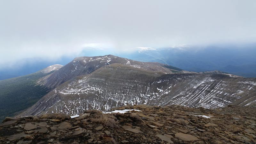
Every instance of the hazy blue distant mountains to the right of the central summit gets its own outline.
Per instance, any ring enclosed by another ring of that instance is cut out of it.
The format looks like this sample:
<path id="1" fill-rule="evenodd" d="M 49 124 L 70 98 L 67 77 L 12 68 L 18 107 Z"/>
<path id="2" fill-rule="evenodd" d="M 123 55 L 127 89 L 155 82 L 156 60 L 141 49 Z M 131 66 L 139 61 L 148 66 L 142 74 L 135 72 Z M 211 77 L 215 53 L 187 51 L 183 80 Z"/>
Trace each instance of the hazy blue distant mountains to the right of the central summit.
<path id="1" fill-rule="evenodd" d="M 230 74 L 256 77 L 256 44 L 243 47 L 175 47 L 140 49 L 130 59 L 160 62 L 188 71 L 220 70 Z"/>

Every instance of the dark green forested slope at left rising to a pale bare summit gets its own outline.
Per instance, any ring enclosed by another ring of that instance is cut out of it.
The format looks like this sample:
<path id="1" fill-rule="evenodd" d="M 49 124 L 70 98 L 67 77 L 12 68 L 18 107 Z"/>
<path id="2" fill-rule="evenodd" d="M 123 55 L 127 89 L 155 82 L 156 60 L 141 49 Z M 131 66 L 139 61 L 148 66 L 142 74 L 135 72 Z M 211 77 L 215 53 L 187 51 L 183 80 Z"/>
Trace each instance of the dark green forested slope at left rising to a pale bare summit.
<path id="1" fill-rule="evenodd" d="M 38 79 L 51 75 L 62 65 L 52 65 L 36 73 L 0 81 L 0 121 L 5 116 L 29 108 L 51 89 L 37 85 Z"/>

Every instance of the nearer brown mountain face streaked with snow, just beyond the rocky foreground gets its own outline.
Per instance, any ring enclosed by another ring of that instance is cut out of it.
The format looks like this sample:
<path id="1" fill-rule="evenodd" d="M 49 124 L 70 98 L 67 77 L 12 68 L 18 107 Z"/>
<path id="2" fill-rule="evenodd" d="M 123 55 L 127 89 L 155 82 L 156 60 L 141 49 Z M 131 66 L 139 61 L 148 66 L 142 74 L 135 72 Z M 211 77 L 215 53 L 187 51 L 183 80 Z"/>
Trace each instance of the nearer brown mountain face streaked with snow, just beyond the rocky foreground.
<path id="1" fill-rule="evenodd" d="M 167 73 L 151 69 L 146 66 L 135 68 L 127 61 L 126 64 L 106 65 L 56 87 L 21 116 L 44 113 L 76 115 L 86 109 L 106 112 L 127 104 L 178 104 L 204 108 L 220 108 L 228 104 L 256 106 L 256 78 Z"/>

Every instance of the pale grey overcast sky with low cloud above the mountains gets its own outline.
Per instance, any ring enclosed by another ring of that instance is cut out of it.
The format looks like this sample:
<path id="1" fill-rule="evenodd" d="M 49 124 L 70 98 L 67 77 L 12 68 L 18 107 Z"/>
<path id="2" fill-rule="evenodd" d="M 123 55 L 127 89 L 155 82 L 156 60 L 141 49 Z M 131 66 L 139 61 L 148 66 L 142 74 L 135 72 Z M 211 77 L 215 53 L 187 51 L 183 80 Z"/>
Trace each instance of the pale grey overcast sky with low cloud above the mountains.
<path id="1" fill-rule="evenodd" d="M 58 58 L 86 46 L 256 41 L 256 0 L 0 0 L 0 66 Z"/>

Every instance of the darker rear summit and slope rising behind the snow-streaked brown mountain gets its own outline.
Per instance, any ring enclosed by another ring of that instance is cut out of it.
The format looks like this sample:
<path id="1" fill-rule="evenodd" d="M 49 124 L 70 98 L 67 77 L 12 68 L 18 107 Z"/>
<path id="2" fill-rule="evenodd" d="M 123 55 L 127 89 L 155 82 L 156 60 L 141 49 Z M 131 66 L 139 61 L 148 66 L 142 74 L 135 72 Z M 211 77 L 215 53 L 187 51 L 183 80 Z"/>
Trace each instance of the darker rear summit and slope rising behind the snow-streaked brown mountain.
<path id="1" fill-rule="evenodd" d="M 45 76 L 38 81 L 39 85 L 48 88 L 55 88 L 60 84 L 70 80 L 75 76 L 87 75 L 93 71 L 113 63 L 124 64 L 135 68 L 141 68 L 151 71 L 159 71 L 164 73 L 182 73 L 182 69 L 157 62 L 140 62 L 113 55 L 96 56 L 96 57 L 78 57 L 60 68 L 52 75 Z"/>

